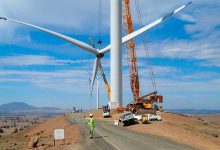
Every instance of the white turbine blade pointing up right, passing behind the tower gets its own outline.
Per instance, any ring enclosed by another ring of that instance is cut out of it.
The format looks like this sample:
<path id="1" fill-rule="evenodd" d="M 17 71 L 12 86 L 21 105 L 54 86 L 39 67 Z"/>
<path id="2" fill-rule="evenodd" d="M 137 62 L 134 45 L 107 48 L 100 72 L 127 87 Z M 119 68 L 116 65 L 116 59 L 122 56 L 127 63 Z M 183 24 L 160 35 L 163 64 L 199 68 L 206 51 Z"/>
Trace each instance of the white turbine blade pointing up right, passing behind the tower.
<path id="1" fill-rule="evenodd" d="M 131 40 L 131 39 L 133 39 L 133 38 L 139 36 L 140 34 L 146 32 L 147 30 L 149 30 L 149 29 L 151 29 L 151 28 L 153 28 L 153 27 L 155 27 L 156 25 L 158 25 L 158 24 L 160 24 L 160 23 L 162 23 L 162 22 L 164 22 L 164 21 L 170 19 L 170 18 L 173 17 L 176 13 L 178 13 L 179 11 L 183 10 L 184 8 L 186 8 L 186 7 L 187 7 L 189 4 L 191 4 L 191 3 L 192 3 L 192 2 L 189 2 L 189 3 L 185 4 L 185 5 L 182 5 L 182 6 L 180 6 L 179 8 L 175 9 L 174 11 L 172 11 L 171 13 L 165 15 L 164 17 L 161 17 L 160 19 L 158 19 L 158 20 L 156 20 L 156 21 L 154 21 L 154 22 L 152 22 L 152 23 L 150 23 L 150 24 L 148 24 L 148 25 L 142 27 L 141 29 L 139 29 L 139 30 L 137 30 L 137 31 L 134 31 L 134 32 L 132 32 L 132 33 L 130 33 L 130 34 L 124 36 L 124 37 L 122 38 L 122 44 L 124 44 L 124 43 L 128 42 L 129 40 Z M 100 50 L 100 53 L 103 53 L 103 54 L 104 54 L 104 53 L 110 51 L 110 49 L 111 49 L 111 46 L 108 45 L 108 46 L 106 46 L 104 49 Z"/>

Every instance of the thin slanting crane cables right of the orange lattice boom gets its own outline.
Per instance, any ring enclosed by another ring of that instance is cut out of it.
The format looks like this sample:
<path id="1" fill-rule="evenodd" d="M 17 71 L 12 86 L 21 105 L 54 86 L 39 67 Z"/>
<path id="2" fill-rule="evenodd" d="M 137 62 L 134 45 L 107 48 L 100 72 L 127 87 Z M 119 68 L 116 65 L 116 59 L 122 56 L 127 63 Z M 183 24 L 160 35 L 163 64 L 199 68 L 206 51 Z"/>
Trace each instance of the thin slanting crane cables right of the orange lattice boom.
<path id="1" fill-rule="evenodd" d="M 143 21 L 142 21 L 142 16 L 141 16 L 140 9 L 139 9 L 138 0 L 135 0 L 135 7 L 136 7 L 138 20 L 139 20 L 139 25 L 141 27 L 143 27 Z M 156 82 L 155 82 L 155 78 L 154 78 L 152 62 L 151 62 L 151 58 L 150 58 L 150 52 L 149 52 L 149 49 L 148 49 L 145 33 L 143 33 L 143 35 L 142 35 L 142 40 L 143 40 L 143 43 L 144 43 L 144 50 L 145 50 L 147 65 L 148 65 L 148 68 L 149 68 L 151 83 L 152 83 L 152 86 L 153 86 L 153 90 L 156 91 L 157 86 L 156 86 Z"/>

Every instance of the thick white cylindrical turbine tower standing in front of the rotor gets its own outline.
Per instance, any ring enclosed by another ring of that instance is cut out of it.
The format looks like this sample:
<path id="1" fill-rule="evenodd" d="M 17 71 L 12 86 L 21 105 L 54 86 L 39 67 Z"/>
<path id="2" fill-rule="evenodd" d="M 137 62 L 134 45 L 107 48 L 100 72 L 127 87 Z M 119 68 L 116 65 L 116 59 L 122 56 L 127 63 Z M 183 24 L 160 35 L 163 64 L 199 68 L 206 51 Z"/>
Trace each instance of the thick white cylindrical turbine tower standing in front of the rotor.
<path id="1" fill-rule="evenodd" d="M 110 107 L 122 106 L 122 0 L 110 0 L 110 72 L 111 100 Z"/>

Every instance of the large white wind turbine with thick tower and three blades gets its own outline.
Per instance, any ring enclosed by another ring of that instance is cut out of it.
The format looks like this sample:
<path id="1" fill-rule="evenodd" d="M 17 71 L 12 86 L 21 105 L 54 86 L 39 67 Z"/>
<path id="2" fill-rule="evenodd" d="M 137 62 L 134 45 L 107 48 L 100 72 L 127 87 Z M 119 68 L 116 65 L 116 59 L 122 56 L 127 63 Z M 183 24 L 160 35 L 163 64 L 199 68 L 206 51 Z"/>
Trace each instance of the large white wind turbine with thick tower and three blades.
<path id="1" fill-rule="evenodd" d="M 69 36 L 63 35 L 61 33 L 43 28 L 43 27 L 39 27 L 33 24 L 29 24 L 29 23 L 25 23 L 16 19 L 10 19 L 10 18 L 6 18 L 6 17 L 0 17 L 1 20 L 5 20 L 5 21 L 11 21 L 11 22 L 15 22 L 18 24 L 22 24 L 22 25 L 26 25 L 35 29 L 38 29 L 40 31 L 44 31 L 47 32 L 51 35 L 54 35 L 56 37 L 59 37 L 63 40 L 66 40 L 67 42 L 72 43 L 73 45 L 76 45 L 80 48 L 82 48 L 83 50 L 94 54 L 96 56 L 95 61 L 94 61 L 94 68 L 93 68 L 93 74 L 92 74 L 92 81 L 91 81 L 91 90 L 93 90 L 93 85 L 94 85 L 94 81 L 96 78 L 96 74 L 98 71 L 98 67 L 100 64 L 100 60 L 102 59 L 102 57 L 105 55 L 105 53 L 109 52 L 111 49 L 111 63 L 110 63 L 110 74 L 111 74 L 111 100 L 110 100 L 110 107 L 111 108 L 116 108 L 118 106 L 122 105 L 122 48 L 121 45 L 126 43 L 127 41 L 139 36 L 140 34 L 148 31 L 149 29 L 155 27 L 156 25 L 166 21 L 167 19 L 171 18 L 172 16 L 174 16 L 176 13 L 178 13 L 179 11 L 183 10 L 184 8 L 186 8 L 189 4 L 191 4 L 191 2 L 180 6 L 179 8 L 175 9 L 174 11 L 172 11 L 171 13 L 167 14 L 164 17 L 159 18 L 158 20 L 140 28 L 137 31 L 134 31 L 131 34 L 128 34 L 124 37 L 122 37 L 121 35 L 121 30 L 122 30 L 122 14 L 121 14 L 121 10 L 122 10 L 122 1 L 121 0 L 110 0 L 110 26 L 111 26 L 111 44 L 106 46 L 105 48 L 98 50 L 93 48 L 92 46 L 79 41 L 77 39 L 71 38 Z"/>

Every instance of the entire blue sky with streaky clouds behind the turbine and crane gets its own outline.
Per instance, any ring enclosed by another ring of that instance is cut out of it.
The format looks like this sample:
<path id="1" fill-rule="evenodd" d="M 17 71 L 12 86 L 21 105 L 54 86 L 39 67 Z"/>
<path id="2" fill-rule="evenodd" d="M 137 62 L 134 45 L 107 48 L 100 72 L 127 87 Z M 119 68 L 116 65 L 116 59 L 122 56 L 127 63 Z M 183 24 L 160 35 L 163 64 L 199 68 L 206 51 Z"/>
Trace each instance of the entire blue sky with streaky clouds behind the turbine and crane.
<path id="1" fill-rule="evenodd" d="M 132 0 L 131 0 L 132 1 Z M 186 0 L 139 0 L 148 24 Z M 146 33 L 159 94 L 165 108 L 220 108 L 220 2 L 193 0 L 192 5 Z M 36 24 L 86 43 L 98 40 L 99 0 L 1 0 L 0 14 Z M 53 4 L 53 5 L 51 5 Z M 139 28 L 134 3 L 132 15 Z M 109 44 L 109 0 L 103 1 L 101 38 Z M 141 93 L 152 91 L 143 43 L 136 38 Z M 102 59 L 107 72 L 109 54 Z M 0 21 L 0 104 L 22 101 L 36 106 L 95 107 L 89 93 L 94 56 L 56 37 Z M 109 76 L 108 76 L 109 81 Z M 101 104 L 107 94 L 103 82 Z M 123 102 L 132 101 L 123 48 Z"/>

